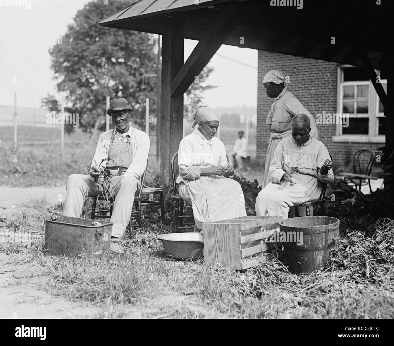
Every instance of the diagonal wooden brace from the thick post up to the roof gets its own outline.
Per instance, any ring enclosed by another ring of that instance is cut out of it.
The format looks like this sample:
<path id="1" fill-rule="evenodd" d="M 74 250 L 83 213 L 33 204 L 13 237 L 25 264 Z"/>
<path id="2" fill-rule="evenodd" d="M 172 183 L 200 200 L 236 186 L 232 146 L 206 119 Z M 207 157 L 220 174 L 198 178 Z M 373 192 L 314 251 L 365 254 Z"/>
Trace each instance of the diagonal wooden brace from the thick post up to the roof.
<path id="1" fill-rule="evenodd" d="M 240 2 L 230 2 L 216 14 L 206 29 L 204 38 L 195 46 L 171 82 L 171 97 L 184 94 L 188 90 L 195 76 L 200 74 L 223 41 L 232 33 L 237 25 L 241 6 Z"/>

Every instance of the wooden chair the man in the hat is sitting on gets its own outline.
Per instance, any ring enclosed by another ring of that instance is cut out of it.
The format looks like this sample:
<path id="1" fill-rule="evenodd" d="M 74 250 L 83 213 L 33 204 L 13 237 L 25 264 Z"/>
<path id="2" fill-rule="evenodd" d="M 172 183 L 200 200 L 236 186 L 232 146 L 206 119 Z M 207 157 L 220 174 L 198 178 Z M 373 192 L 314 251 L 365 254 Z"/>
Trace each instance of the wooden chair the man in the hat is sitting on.
<path id="1" fill-rule="evenodd" d="M 139 189 L 136 191 L 136 195 L 134 197 L 134 207 L 136 210 L 132 211 L 130 221 L 127 226 L 130 237 L 132 237 L 134 235 L 134 230 L 133 230 L 133 225 L 132 225 L 132 218 L 133 217 L 136 217 L 137 221 L 138 221 L 138 229 L 136 229 L 136 231 L 143 229 L 142 217 L 141 217 L 141 201 L 142 201 L 141 194 L 142 194 L 142 189 L 143 189 L 143 185 L 145 182 L 145 175 L 147 173 L 147 168 L 148 168 L 148 163 L 147 163 L 147 166 L 145 167 L 145 171 L 143 172 L 142 177 L 141 177 L 141 185 L 140 185 Z M 96 211 L 96 205 L 97 205 L 98 201 L 105 201 L 104 196 L 97 195 L 97 196 L 93 197 L 90 218 L 92 220 L 95 220 L 96 218 L 111 218 L 112 209 L 113 209 L 113 199 L 111 197 L 109 199 L 109 202 L 110 202 L 109 209 L 99 209 Z M 108 215 L 108 213 L 109 213 L 109 215 Z"/>

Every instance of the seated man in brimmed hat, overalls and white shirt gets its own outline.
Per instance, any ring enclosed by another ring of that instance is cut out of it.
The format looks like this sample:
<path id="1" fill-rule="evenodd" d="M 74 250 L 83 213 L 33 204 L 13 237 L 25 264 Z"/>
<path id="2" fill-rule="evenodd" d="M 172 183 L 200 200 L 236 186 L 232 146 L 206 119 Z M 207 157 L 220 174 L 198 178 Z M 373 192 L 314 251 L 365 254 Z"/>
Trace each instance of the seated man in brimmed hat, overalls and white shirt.
<path id="1" fill-rule="evenodd" d="M 63 206 L 64 216 L 80 217 L 85 197 L 101 193 L 96 180 L 100 175 L 99 166 L 106 167 L 112 173 L 108 190 L 115 199 L 110 219 L 113 222 L 110 250 L 117 253 L 124 252 L 118 241 L 130 221 L 150 148 L 148 135 L 130 126 L 131 111 L 125 98 L 111 100 L 107 114 L 112 117 L 115 128 L 100 135 L 89 175 L 71 174 Z"/>

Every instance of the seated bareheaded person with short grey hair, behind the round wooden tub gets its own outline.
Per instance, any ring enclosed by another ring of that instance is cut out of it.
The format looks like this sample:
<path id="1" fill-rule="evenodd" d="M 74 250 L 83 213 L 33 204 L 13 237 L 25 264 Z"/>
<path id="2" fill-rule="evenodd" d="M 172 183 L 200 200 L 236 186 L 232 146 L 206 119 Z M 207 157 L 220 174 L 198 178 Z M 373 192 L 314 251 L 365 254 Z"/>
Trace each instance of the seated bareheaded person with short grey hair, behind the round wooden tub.
<path id="1" fill-rule="evenodd" d="M 269 166 L 270 181 L 256 198 L 256 215 L 288 218 L 290 207 L 317 200 L 323 183 L 334 181 L 325 145 L 310 137 L 309 117 L 294 116 L 292 137 L 283 139 L 275 149 Z"/>

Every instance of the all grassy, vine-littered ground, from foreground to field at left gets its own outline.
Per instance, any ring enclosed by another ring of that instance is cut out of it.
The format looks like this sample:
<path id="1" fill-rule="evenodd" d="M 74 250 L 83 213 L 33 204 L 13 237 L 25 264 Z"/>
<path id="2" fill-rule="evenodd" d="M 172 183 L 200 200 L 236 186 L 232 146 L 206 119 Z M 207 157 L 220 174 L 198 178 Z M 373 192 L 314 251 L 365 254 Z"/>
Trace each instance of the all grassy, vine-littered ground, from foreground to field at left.
<path id="1" fill-rule="evenodd" d="M 69 174 L 87 172 L 95 150 L 95 142 L 85 138 L 82 144 L 66 146 L 63 161 L 58 145 L 21 146 L 16 151 L 1 145 L 0 189 L 64 185 Z M 149 162 L 147 181 L 157 184 L 158 163 Z M 242 187 L 249 189 L 249 194 L 244 190 L 249 201 L 257 187 L 246 182 Z M 34 285 L 51 297 L 97 307 L 101 312 L 91 316 L 97 318 L 393 318 L 392 193 L 351 198 L 349 189 L 350 196 L 330 206 L 329 215 L 341 223 L 339 248 L 310 276 L 291 274 L 278 260 L 245 271 L 205 266 L 201 260 L 169 261 L 156 237 L 171 231 L 168 197 L 164 224 L 158 222 L 157 211 L 144 209 L 144 231 L 122 240 L 126 253 L 97 259 L 45 255 L 44 220 L 52 211 L 61 215 L 62 206 L 33 199 L 2 210 L 0 232 L 31 231 L 35 241 L 30 246 L 3 242 L 0 253 L 7 255 L 4 265 L 32 271 Z M 253 206 L 253 200 L 249 204 Z M 5 285 L 28 295 L 29 282 L 14 278 Z"/>

